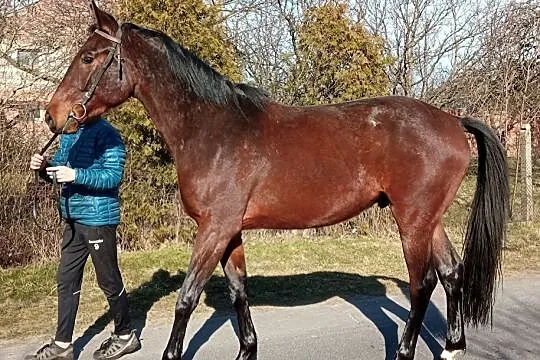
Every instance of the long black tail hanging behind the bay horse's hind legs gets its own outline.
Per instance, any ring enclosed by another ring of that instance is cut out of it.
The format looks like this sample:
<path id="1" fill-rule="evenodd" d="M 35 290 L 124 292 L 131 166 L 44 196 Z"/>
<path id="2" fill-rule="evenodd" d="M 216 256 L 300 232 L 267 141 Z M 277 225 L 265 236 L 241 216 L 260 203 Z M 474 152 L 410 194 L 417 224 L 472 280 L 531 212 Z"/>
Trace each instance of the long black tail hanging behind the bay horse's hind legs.
<path id="1" fill-rule="evenodd" d="M 484 123 L 462 118 L 478 146 L 478 178 L 463 250 L 465 323 L 486 325 L 492 315 L 501 251 L 509 214 L 508 164 L 505 150 Z"/>

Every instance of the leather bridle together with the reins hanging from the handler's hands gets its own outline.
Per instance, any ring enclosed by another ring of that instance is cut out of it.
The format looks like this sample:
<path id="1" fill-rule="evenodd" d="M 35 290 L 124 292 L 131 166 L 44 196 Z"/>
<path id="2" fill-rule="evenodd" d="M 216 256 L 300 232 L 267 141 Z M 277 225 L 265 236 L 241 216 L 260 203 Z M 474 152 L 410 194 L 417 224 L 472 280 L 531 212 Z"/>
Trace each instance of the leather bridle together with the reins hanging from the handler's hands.
<path id="1" fill-rule="evenodd" d="M 118 78 L 119 78 L 120 81 L 122 81 L 122 62 L 123 62 L 122 55 L 121 55 L 122 25 L 118 26 L 118 31 L 116 32 L 116 36 L 109 35 L 109 34 L 107 34 L 106 32 L 104 32 L 104 31 L 102 31 L 100 29 L 96 29 L 96 30 L 94 30 L 94 32 L 96 34 L 100 35 L 101 37 L 104 37 L 105 39 L 110 40 L 113 43 L 113 47 L 109 50 L 109 54 L 107 55 L 107 59 L 102 64 L 101 68 L 94 75 L 92 75 L 92 83 L 91 83 L 90 87 L 88 88 L 88 90 L 85 91 L 82 100 L 80 102 L 74 104 L 71 107 L 71 112 L 70 112 L 66 122 L 64 123 L 64 126 L 62 127 L 62 131 L 59 132 L 59 133 L 54 133 L 53 134 L 53 136 L 49 139 L 47 144 L 39 152 L 40 155 L 45 154 L 45 152 L 51 146 L 51 144 L 54 142 L 56 137 L 59 134 L 64 133 L 67 125 L 71 121 L 76 121 L 77 122 L 77 127 L 80 127 L 83 124 L 83 119 L 86 117 L 86 115 L 88 115 L 88 111 L 86 109 L 86 104 L 88 104 L 88 102 L 90 101 L 92 96 L 94 96 L 94 93 L 96 92 L 96 89 L 97 89 L 97 87 L 99 85 L 99 82 L 101 81 L 101 78 L 103 77 L 103 75 L 105 74 L 105 72 L 107 71 L 109 66 L 111 66 L 111 64 L 112 64 L 112 62 L 113 62 L 113 60 L 115 58 L 116 58 L 116 61 L 118 61 Z M 82 115 L 77 115 L 76 110 L 78 110 L 78 108 L 82 109 Z M 35 177 L 36 189 L 35 189 L 35 192 L 34 192 L 34 199 L 33 199 L 33 204 L 32 204 L 32 218 L 34 220 L 34 223 L 36 224 L 36 226 L 40 230 L 53 231 L 54 228 L 45 228 L 45 227 L 41 226 L 39 224 L 39 222 L 38 222 L 37 197 L 38 197 L 38 186 L 39 186 L 39 170 L 35 171 L 34 177 Z M 53 182 L 53 186 L 57 185 L 56 174 L 53 174 L 52 182 Z M 58 201 L 57 205 L 58 205 L 59 221 L 61 221 L 61 219 L 62 219 L 62 214 L 61 214 L 61 210 L 60 210 L 61 191 L 62 191 L 62 187 L 60 186 L 59 190 L 58 190 L 58 199 L 57 199 L 57 201 Z"/>

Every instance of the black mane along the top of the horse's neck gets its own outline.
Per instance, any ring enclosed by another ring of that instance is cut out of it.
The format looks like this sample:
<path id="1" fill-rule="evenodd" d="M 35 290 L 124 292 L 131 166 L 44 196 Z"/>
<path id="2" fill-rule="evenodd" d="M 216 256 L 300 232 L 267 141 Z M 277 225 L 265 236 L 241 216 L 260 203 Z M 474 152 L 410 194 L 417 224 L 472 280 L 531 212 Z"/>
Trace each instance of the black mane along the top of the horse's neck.
<path id="1" fill-rule="evenodd" d="M 264 104 L 269 99 L 264 90 L 232 82 L 160 31 L 141 28 L 133 24 L 125 24 L 125 26 L 134 29 L 143 37 L 159 39 L 163 43 L 163 50 L 172 73 L 198 98 L 211 104 L 237 107 L 248 102 L 264 110 Z"/>

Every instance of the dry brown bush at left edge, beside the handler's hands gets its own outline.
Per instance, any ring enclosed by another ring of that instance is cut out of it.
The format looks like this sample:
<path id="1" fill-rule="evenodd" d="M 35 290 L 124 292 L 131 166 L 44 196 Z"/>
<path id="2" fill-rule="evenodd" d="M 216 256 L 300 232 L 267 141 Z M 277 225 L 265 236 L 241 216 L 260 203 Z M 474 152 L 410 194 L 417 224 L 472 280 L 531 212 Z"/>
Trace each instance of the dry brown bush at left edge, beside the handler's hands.
<path id="1" fill-rule="evenodd" d="M 0 124 L 2 127 L 4 124 Z M 50 259 L 58 255 L 58 212 L 50 186 L 34 185 L 28 169 L 32 152 L 44 142 L 44 132 L 33 123 L 17 123 L 0 131 L 0 267 Z M 41 226 L 32 220 L 32 202 L 37 191 Z"/>

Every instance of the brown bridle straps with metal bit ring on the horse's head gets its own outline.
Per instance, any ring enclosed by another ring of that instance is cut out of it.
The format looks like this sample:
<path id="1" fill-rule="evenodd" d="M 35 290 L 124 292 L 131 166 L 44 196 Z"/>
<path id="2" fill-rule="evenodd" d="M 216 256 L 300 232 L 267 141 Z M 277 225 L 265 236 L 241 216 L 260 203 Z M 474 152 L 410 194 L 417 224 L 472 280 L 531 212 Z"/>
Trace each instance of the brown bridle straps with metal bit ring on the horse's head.
<path id="1" fill-rule="evenodd" d="M 101 37 L 104 37 L 107 40 L 110 40 L 113 43 L 113 47 L 109 50 L 109 54 L 107 55 L 107 59 L 101 66 L 98 72 L 92 76 L 92 84 L 86 90 L 86 92 L 83 95 L 83 98 L 80 102 L 74 104 L 71 107 L 71 112 L 68 116 L 67 121 L 64 124 L 64 127 L 62 129 L 62 132 L 64 132 L 67 124 L 70 121 L 76 121 L 77 125 L 82 125 L 82 120 L 88 115 L 88 111 L 86 109 L 86 104 L 90 101 L 92 96 L 94 96 L 94 93 L 96 92 L 96 89 L 98 87 L 99 82 L 101 81 L 101 78 L 103 77 L 103 74 L 105 74 L 105 71 L 111 66 L 113 59 L 116 58 L 116 61 L 118 61 L 118 79 L 122 81 L 122 62 L 124 59 L 122 58 L 121 49 L 122 49 L 122 25 L 118 26 L 118 30 L 116 31 L 116 36 L 112 36 L 107 34 L 106 32 L 96 29 L 94 32 Z M 75 110 L 82 109 L 82 115 L 77 115 L 77 112 Z"/>

